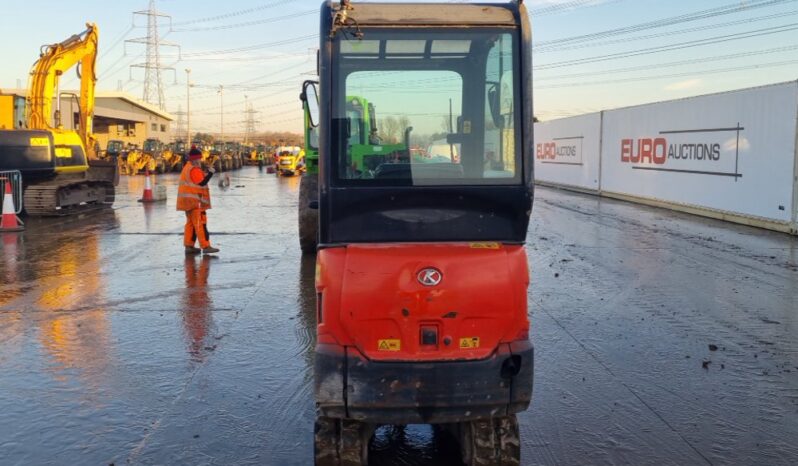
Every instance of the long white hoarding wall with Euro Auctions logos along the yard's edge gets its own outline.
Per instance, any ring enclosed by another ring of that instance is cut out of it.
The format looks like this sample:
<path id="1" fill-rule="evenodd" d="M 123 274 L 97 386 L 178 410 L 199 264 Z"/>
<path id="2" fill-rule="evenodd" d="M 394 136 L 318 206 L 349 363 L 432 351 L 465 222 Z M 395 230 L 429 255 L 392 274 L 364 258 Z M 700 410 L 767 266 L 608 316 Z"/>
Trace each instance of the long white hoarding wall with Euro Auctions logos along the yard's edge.
<path id="1" fill-rule="evenodd" d="M 797 128 L 798 82 L 539 123 L 536 178 L 795 232 Z"/>

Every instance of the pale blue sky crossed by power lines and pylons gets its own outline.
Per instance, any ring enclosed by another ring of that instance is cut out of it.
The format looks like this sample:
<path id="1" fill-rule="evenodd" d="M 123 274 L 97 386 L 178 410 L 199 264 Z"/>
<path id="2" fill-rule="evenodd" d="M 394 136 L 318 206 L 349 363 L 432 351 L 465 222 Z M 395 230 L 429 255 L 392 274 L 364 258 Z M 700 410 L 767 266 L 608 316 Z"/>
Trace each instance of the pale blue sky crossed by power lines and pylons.
<path id="1" fill-rule="evenodd" d="M 357 0 L 353 0 L 357 2 Z M 99 91 L 143 97 L 148 0 L 0 0 L 0 90 L 27 86 L 42 44 L 98 25 Z M 165 109 L 191 128 L 301 132 L 318 0 L 157 0 Z M 526 0 L 542 120 L 798 79 L 798 0 Z M 167 45 L 174 44 L 176 46 Z M 177 47 L 179 46 L 179 47 Z M 73 72 L 62 89 L 77 87 Z M 220 95 L 219 86 L 223 86 Z M 224 111 L 222 112 L 222 105 Z"/>

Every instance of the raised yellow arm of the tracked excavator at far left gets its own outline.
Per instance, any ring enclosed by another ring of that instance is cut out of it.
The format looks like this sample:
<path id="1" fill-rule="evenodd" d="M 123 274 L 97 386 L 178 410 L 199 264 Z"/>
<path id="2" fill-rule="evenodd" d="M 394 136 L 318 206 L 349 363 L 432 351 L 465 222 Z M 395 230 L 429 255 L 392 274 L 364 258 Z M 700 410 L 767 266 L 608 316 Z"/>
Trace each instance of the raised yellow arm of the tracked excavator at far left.
<path id="1" fill-rule="evenodd" d="M 78 134 L 89 153 L 94 152 L 92 126 L 94 118 L 94 87 L 97 83 L 95 65 L 97 62 L 97 26 L 86 23 L 86 30 L 69 39 L 42 47 L 39 60 L 31 70 L 27 105 L 27 124 L 29 129 L 57 129 L 61 127 L 61 116 L 53 114 L 53 99 L 59 98 L 58 83 L 61 76 L 79 64 L 80 76 L 80 128 Z"/>

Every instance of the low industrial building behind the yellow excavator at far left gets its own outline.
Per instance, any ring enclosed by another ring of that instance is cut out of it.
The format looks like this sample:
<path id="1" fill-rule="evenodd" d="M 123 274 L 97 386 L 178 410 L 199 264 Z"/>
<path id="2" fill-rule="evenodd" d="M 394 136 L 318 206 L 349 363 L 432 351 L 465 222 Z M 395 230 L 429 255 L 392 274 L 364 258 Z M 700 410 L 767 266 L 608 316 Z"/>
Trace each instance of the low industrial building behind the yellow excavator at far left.
<path id="1" fill-rule="evenodd" d="M 75 95 L 71 97 L 70 94 Z M 0 90 L 0 129 L 21 128 L 25 124 L 25 95 L 22 89 Z M 57 103 L 53 108 L 58 108 Z M 67 115 L 72 114 L 72 118 Z M 61 93 L 61 121 L 66 129 L 78 125 L 77 92 Z M 125 92 L 97 92 L 94 106 L 94 136 L 105 148 L 111 139 L 141 145 L 147 138 L 167 142 L 171 139 L 169 113 L 142 102 Z"/>

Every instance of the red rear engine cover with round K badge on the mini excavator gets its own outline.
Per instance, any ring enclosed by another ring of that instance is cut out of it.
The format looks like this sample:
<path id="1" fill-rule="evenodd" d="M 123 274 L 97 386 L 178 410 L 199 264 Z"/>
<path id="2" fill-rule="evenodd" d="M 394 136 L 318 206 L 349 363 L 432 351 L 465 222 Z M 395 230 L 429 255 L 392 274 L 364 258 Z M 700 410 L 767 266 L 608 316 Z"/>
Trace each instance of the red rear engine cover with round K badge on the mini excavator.
<path id="1" fill-rule="evenodd" d="M 523 246 L 322 249 L 316 276 L 319 342 L 356 346 L 380 361 L 482 359 L 500 342 L 528 337 L 528 283 Z"/>

